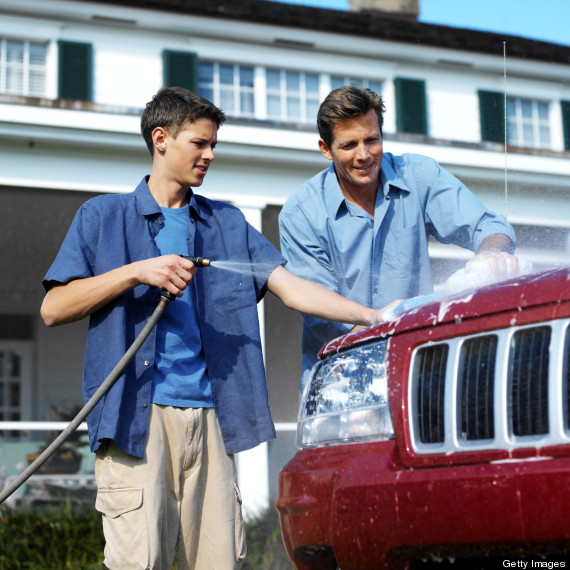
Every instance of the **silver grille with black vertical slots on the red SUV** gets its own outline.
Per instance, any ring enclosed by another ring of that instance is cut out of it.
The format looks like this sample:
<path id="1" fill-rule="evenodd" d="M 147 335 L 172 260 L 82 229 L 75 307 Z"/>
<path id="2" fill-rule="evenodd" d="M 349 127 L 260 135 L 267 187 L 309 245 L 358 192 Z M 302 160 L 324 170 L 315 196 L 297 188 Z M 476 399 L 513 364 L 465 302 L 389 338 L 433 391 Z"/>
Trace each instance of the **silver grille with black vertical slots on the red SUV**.
<path id="1" fill-rule="evenodd" d="M 570 443 L 570 319 L 429 343 L 412 355 L 417 453 Z"/>

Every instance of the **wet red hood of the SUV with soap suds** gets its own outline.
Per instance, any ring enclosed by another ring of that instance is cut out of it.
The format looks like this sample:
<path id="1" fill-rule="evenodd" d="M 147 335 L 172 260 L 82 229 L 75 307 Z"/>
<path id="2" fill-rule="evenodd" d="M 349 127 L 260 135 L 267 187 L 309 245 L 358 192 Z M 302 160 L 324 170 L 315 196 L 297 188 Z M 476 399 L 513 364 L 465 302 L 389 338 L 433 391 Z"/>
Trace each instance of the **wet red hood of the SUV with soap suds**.
<path id="1" fill-rule="evenodd" d="M 556 306 L 570 301 L 570 267 L 532 273 L 478 289 L 430 300 L 377 325 L 335 338 L 323 346 L 319 358 L 332 353 L 388 338 L 404 331 L 433 327 L 451 321 L 481 318 L 533 305 Z"/>

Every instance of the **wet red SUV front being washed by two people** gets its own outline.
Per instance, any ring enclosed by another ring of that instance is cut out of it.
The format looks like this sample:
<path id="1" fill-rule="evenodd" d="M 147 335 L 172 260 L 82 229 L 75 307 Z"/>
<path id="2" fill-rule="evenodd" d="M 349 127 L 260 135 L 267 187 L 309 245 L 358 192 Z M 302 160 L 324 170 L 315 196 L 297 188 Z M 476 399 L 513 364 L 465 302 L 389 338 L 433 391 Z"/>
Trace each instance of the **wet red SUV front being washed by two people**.
<path id="1" fill-rule="evenodd" d="M 362 570 L 570 552 L 569 385 L 570 268 L 331 341 L 279 475 L 289 557 Z"/>

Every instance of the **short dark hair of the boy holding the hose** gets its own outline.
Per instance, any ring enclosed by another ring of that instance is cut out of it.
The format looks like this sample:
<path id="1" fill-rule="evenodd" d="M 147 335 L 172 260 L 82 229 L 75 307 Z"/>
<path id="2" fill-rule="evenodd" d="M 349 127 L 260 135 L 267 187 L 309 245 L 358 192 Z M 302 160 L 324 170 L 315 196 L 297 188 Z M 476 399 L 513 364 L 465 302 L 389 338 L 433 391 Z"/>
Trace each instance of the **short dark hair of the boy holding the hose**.
<path id="1" fill-rule="evenodd" d="M 154 156 L 152 132 L 163 127 L 176 138 L 188 124 L 198 119 L 210 119 L 218 129 L 226 120 L 221 109 L 204 97 L 183 87 L 162 87 L 146 104 L 141 115 L 141 133 L 151 156 Z"/>

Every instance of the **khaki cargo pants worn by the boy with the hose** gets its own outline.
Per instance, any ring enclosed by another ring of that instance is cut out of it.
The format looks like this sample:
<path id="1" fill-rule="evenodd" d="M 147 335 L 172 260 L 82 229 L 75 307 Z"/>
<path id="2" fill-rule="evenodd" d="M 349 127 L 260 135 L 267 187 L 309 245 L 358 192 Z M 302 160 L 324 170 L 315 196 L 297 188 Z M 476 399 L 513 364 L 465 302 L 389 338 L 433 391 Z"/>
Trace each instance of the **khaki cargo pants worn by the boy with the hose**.
<path id="1" fill-rule="evenodd" d="M 233 570 L 245 559 L 241 497 L 233 456 L 214 408 L 153 404 L 145 456 L 112 442 L 95 460 L 96 508 L 103 514 L 110 570 Z"/>

